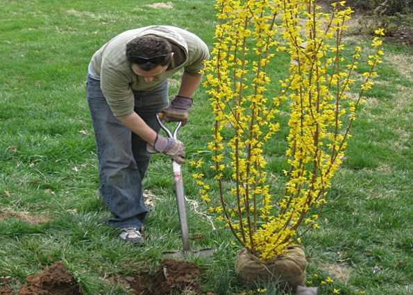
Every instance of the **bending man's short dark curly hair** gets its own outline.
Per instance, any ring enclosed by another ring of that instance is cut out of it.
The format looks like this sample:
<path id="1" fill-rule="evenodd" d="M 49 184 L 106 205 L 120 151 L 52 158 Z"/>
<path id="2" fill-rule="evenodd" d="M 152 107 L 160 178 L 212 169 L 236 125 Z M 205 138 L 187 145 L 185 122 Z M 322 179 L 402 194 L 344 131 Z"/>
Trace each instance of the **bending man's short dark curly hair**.
<path id="1" fill-rule="evenodd" d="M 134 62 L 135 56 L 142 58 L 151 58 L 153 56 L 162 56 L 171 52 L 171 44 L 169 44 L 169 42 L 164 38 L 155 35 L 144 35 L 136 37 L 126 44 L 126 58 L 130 63 L 137 63 Z M 170 61 L 171 56 L 167 56 L 165 60 L 163 60 L 159 64 L 154 64 L 153 62 L 144 62 L 140 63 L 139 67 L 144 71 L 150 71 L 158 65 L 169 65 Z"/>

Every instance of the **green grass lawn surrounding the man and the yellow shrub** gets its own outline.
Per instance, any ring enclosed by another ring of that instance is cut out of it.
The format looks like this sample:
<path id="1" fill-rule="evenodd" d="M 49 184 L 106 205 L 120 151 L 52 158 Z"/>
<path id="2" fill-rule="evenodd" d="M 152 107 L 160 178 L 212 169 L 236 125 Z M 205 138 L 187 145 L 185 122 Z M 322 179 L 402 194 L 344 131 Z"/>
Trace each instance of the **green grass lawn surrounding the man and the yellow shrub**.
<path id="1" fill-rule="evenodd" d="M 176 0 L 171 9 L 146 6 L 155 2 L 1 3 L 0 278 L 10 277 L 16 292 L 27 276 L 63 261 L 86 294 L 126 294 L 108 278 L 153 269 L 164 251 L 182 246 L 170 162 L 163 155 L 153 157 L 144 183 L 157 197 L 146 222 L 145 246 L 120 242 L 117 231 L 106 226 L 110 214 L 98 198 L 94 133 L 85 100 L 87 63 L 117 33 L 169 24 L 187 28 L 212 47 L 213 1 Z M 363 47 L 369 44 L 357 38 Z M 367 93 L 335 176 L 321 229 L 303 238 L 308 285 L 318 286 L 321 295 L 332 289 L 348 295 L 413 294 L 413 55 L 391 40 L 385 51 L 378 83 Z M 171 87 L 171 95 L 177 87 Z M 208 153 L 212 121 L 203 87 L 194 101 L 190 124 L 180 135 L 189 160 Z M 280 119 L 285 126 L 287 118 Z M 280 130 L 267 151 L 274 189 L 282 187 L 286 134 Z M 213 216 L 206 217 L 208 205 L 197 194 L 193 172 L 183 167 L 185 192 L 194 200 L 188 204 L 189 230 L 205 239 L 192 246 L 215 251 L 213 260 L 193 258 L 206 269 L 203 287 L 239 294 L 246 289 L 234 271 L 239 246 Z M 10 212 L 47 222 L 24 222 Z M 323 284 L 327 277 L 334 282 Z M 262 287 L 267 294 L 276 292 L 271 285 Z"/>

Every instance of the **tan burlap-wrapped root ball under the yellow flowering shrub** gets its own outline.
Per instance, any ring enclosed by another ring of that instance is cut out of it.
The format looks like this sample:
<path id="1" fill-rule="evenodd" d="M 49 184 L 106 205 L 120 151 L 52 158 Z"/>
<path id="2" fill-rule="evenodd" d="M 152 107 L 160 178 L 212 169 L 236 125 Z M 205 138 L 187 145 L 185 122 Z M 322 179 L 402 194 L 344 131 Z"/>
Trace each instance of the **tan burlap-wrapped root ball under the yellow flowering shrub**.
<path id="1" fill-rule="evenodd" d="M 287 248 L 287 252 L 269 262 L 248 253 L 246 249 L 238 254 L 235 272 L 247 283 L 277 282 L 281 288 L 295 289 L 305 284 L 305 269 L 307 260 L 300 247 Z"/>

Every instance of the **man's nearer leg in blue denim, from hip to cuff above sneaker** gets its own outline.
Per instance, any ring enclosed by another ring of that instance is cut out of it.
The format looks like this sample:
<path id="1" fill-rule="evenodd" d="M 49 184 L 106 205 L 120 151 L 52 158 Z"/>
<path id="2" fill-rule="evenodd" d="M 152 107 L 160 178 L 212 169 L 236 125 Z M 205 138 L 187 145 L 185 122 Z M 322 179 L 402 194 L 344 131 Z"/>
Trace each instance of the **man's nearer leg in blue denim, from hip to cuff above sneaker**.
<path id="1" fill-rule="evenodd" d="M 96 135 L 100 194 L 113 214 L 108 224 L 140 230 L 147 210 L 142 178 L 131 149 L 131 131 L 112 114 L 100 81 L 87 78 L 87 102 Z"/>

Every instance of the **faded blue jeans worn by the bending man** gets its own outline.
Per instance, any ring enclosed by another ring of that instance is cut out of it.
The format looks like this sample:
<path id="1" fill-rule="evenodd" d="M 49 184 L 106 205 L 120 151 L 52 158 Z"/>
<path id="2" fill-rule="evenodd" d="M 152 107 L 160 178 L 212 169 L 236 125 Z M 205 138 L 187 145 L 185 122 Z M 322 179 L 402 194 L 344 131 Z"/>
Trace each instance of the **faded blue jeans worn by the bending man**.
<path id="1" fill-rule="evenodd" d="M 100 85 L 99 80 L 87 77 L 87 103 L 99 160 L 99 193 L 113 215 L 108 221 L 110 226 L 141 229 L 147 212 L 142 180 L 151 153 L 146 151 L 146 142 L 113 115 Z M 168 105 L 168 82 L 155 90 L 134 91 L 133 94 L 135 112 L 159 133 L 156 114 Z"/>

